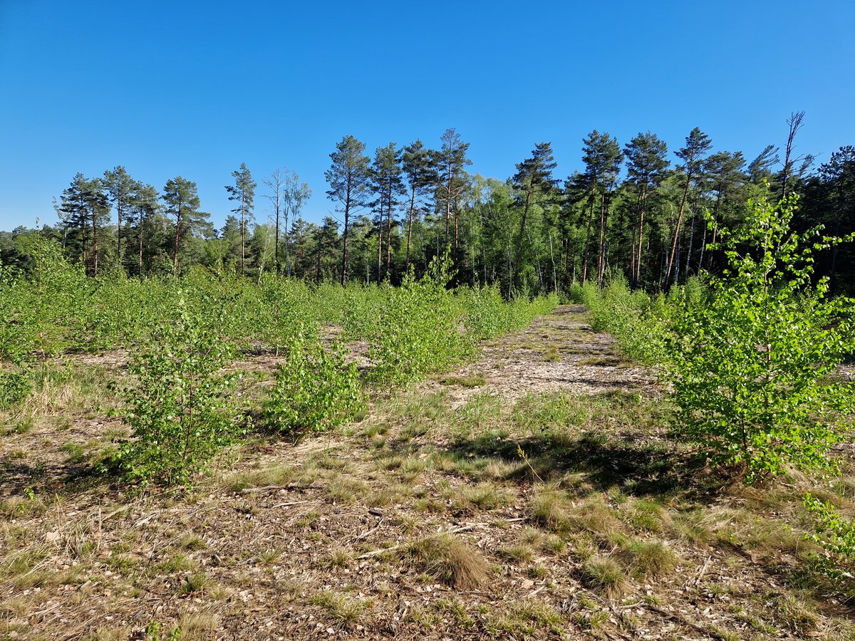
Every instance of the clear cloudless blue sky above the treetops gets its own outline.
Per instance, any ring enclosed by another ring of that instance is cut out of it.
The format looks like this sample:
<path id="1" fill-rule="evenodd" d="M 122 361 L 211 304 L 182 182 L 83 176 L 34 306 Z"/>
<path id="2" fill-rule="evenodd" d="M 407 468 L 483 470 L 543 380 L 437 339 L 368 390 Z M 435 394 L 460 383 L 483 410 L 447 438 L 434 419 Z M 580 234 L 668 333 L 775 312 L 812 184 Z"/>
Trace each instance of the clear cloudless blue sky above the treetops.
<path id="1" fill-rule="evenodd" d="M 549 140 L 563 177 L 594 128 L 674 150 L 699 126 L 750 159 L 804 109 L 799 152 L 822 161 L 855 144 L 853 34 L 852 0 L 0 0 L 0 229 L 55 222 L 74 173 L 119 164 L 197 181 L 218 226 L 241 162 L 259 192 L 291 168 L 318 221 L 345 134 L 373 153 L 454 126 L 500 179 Z"/>

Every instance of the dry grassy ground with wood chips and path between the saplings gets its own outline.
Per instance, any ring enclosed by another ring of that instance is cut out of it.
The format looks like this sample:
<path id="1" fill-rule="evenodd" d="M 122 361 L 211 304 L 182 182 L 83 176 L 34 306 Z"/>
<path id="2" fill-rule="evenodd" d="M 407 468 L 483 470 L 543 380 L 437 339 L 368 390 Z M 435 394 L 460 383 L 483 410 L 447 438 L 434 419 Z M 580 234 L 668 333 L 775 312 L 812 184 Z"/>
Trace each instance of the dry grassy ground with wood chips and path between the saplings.
<path id="1" fill-rule="evenodd" d="M 279 362 L 234 367 L 251 394 Z M 371 391 L 345 430 L 255 438 L 192 491 L 92 472 L 127 436 L 126 367 L 45 366 L 0 415 L 0 638 L 855 638 L 801 505 L 851 499 L 852 470 L 706 468 L 582 307 Z"/>

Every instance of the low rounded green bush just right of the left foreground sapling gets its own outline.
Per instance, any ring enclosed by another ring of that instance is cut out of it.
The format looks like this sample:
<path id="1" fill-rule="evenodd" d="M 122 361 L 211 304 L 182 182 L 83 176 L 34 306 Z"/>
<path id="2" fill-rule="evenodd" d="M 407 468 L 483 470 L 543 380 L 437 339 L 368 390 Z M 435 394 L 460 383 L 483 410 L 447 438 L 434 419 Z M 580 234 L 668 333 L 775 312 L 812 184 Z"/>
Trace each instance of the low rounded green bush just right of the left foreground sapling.
<path id="1" fill-rule="evenodd" d="M 286 345 L 287 362 L 264 403 L 264 419 L 280 432 L 323 432 L 342 425 L 363 409 L 357 367 L 345 362 L 344 351 L 324 349 L 302 334 Z"/>

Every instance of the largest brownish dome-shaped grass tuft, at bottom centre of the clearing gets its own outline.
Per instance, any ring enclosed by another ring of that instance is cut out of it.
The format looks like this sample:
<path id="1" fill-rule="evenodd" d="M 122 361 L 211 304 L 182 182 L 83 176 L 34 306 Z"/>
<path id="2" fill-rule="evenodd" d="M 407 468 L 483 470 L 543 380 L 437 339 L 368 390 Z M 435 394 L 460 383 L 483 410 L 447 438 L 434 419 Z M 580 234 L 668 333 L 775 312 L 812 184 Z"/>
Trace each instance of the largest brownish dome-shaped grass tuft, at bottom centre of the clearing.
<path id="1" fill-rule="evenodd" d="M 419 571 L 461 590 L 483 587 L 490 578 L 490 564 L 481 553 L 453 534 L 418 538 L 404 546 L 401 556 Z"/>

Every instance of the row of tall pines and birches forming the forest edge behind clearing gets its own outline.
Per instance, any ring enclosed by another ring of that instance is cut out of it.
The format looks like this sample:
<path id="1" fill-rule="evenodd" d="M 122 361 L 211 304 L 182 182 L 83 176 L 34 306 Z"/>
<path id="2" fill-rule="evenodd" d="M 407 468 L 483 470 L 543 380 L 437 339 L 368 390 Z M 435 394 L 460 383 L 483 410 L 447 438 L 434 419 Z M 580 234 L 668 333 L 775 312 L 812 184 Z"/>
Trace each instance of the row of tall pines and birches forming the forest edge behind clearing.
<path id="1" fill-rule="evenodd" d="M 707 249 L 716 241 L 708 221 L 743 221 L 747 200 L 767 182 L 773 197 L 799 193 L 796 229 L 855 229 L 855 147 L 841 146 L 822 164 L 798 154 L 803 118 L 791 115 L 783 144 L 750 162 L 741 151 L 715 150 L 699 128 L 676 150 L 652 132 L 621 144 L 594 130 L 582 140 L 584 169 L 563 180 L 550 143 L 536 144 L 510 178 L 495 179 L 469 173 L 469 144 L 454 129 L 439 149 L 389 143 L 373 157 L 345 136 L 326 173 L 337 215 L 320 224 L 304 220 L 313 190 L 290 170 L 257 179 L 241 164 L 225 186 L 233 209 L 220 229 L 191 179 L 176 176 L 158 191 L 121 166 L 78 173 L 55 202 L 56 224 L 0 232 L 0 264 L 29 270 L 40 231 L 91 275 L 144 278 L 200 264 L 256 278 L 273 271 L 310 282 L 398 284 L 448 249 L 459 283 L 496 284 L 507 297 L 602 285 L 610 270 L 664 290 L 721 267 L 722 256 Z M 846 244 L 817 257 L 833 291 L 852 289 L 852 252 Z"/>

